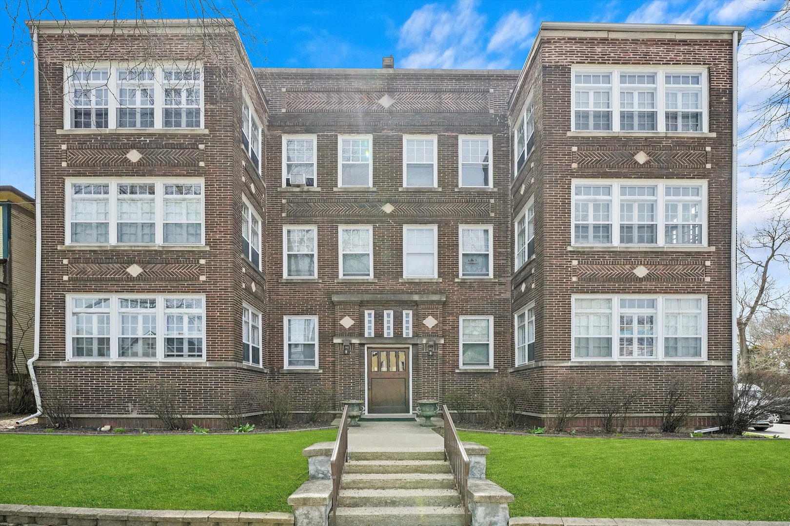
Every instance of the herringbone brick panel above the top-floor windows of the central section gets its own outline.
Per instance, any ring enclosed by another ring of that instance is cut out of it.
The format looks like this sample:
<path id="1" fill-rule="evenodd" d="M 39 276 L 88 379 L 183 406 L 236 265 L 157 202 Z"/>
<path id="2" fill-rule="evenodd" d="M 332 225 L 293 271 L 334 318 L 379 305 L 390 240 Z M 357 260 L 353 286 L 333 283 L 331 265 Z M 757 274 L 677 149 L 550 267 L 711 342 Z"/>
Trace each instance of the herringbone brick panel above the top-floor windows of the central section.
<path id="1" fill-rule="evenodd" d="M 292 113 L 487 114 L 488 91 L 288 91 Z"/>

